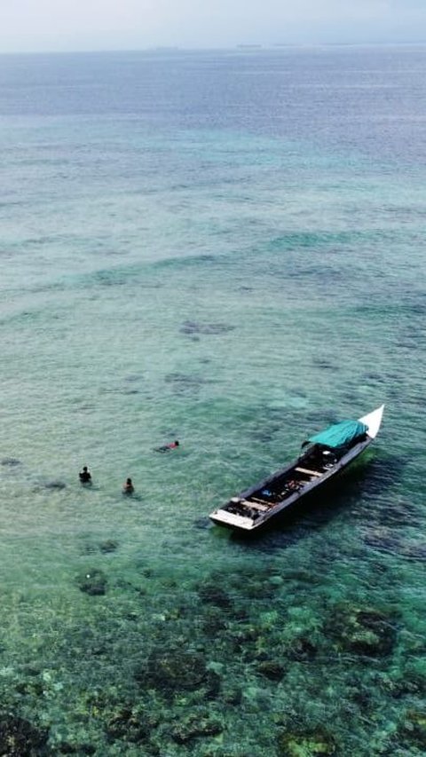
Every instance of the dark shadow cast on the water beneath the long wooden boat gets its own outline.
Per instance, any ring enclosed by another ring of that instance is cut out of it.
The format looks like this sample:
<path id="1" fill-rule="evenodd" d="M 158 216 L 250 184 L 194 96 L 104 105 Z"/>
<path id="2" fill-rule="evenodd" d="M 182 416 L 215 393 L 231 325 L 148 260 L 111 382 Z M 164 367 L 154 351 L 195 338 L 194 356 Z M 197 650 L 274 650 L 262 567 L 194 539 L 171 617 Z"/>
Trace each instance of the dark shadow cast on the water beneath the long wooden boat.
<path id="1" fill-rule="evenodd" d="M 363 500 L 365 492 L 370 496 L 383 498 L 399 479 L 406 462 L 397 456 L 379 459 L 372 451 L 364 454 L 362 461 L 355 462 L 350 469 L 332 478 L 319 491 L 313 491 L 297 501 L 295 507 L 284 510 L 279 516 L 264 524 L 254 532 L 231 532 L 233 542 L 262 551 L 282 549 L 303 540 L 312 531 L 323 528 L 335 516 L 350 512 L 356 503 Z"/>

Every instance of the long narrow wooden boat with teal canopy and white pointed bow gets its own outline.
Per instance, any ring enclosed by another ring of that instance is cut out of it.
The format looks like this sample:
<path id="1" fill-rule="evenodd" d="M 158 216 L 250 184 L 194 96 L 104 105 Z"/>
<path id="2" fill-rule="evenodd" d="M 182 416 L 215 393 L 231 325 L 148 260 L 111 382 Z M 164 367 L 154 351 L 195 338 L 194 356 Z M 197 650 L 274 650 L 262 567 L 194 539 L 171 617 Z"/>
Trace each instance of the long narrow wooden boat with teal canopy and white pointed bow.
<path id="1" fill-rule="evenodd" d="M 251 486 L 210 514 L 211 520 L 252 532 L 326 484 L 355 460 L 377 436 L 384 405 L 358 421 L 342 421 L 307 439 L 296 461 Z"/>

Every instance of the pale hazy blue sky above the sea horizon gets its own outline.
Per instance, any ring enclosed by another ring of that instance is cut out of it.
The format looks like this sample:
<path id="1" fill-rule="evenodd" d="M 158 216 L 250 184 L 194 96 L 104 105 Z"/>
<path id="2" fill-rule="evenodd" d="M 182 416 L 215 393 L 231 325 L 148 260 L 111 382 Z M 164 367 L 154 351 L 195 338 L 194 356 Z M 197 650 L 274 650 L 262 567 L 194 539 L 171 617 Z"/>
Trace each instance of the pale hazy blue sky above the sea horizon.
<path id="1" fill-rule="evenodd" d="M 0 52 L 426 42 L 426 0 L 0 0 Z"/>

